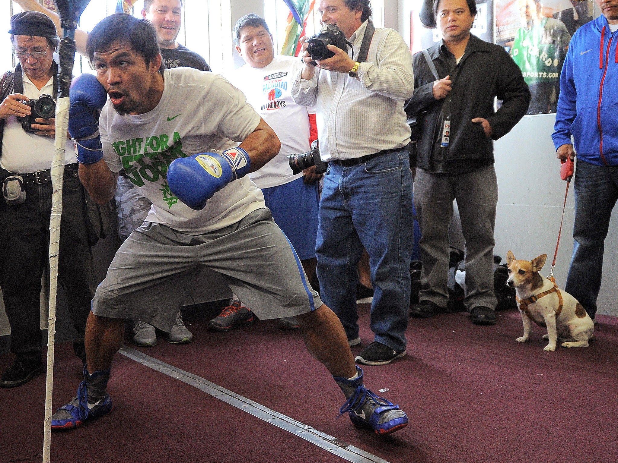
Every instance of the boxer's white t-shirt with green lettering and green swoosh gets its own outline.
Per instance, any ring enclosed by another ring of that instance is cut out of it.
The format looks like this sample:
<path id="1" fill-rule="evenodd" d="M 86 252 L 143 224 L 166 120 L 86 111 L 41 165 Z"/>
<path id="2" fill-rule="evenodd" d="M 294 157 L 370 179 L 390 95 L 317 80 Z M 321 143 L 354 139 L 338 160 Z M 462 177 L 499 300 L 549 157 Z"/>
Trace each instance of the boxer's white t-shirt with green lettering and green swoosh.
<path id="1" fill-rule="evenodd" d="M 180 67 L 164 70 L 163 81 L 161 101 L 152 111 L 121 116 L 108 99 L 99 119 L 109 169 L 124 168 L 135 188 L 153 203 L 146 222 L 198 235 L 265 207 L 261 190 L 248 176 L 219 190 L 201 211 L 186 206 L 169 190 L 167 167 L 174 159 L 237 146 L 234 142 L 258 126 L 260 115 L 221 75 Z"/>

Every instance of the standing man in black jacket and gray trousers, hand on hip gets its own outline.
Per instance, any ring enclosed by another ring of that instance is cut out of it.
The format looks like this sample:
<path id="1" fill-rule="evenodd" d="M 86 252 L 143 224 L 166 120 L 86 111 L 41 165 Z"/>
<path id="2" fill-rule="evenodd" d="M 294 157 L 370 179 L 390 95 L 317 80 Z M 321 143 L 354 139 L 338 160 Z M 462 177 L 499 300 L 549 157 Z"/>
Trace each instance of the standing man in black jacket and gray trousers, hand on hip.
<path id="1" fill-rule="evenodd" d="M 444 312 L 449 299 L 449 224 L 453 200 L 465 238 L 465 299 L 472 323 L 493 325 L 494 223 L 497 180 L 493 140 L 526 114 L 530 91 L 509 54 L 470 34 L 474 0 L 436 0 L 442 40 L 428 49 L 439 80 L 422 53 L 413 59 L 415 93 L 408 115 L 417 114 L 414 204 L 423 261 L 419 303 L 410 315 Z M 494 97 L 503 104 L 494 112 Z M 447 220 L 446 220 L 447 219 Z"/>

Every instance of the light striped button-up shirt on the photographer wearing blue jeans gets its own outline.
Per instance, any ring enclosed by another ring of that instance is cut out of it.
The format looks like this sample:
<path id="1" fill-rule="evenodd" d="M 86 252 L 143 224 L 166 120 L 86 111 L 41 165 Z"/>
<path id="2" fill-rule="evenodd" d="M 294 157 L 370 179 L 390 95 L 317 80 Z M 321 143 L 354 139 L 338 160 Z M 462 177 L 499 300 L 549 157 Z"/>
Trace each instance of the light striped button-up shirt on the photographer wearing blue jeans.
<path id="1" fill-rule="evenodd" d="M 352 57 L 358 56 L 367 22 L 350 37 Z M 397 31 L 376 29 L 357 78 L 316 68 L 311 80 L 304 80 L 302 69 L 292 84 L 292 97 L 297 104 L 317 108 L 323 161 L 352 159 L 408 144 L 404 101 L 414 91 L 412 55 Z"/>

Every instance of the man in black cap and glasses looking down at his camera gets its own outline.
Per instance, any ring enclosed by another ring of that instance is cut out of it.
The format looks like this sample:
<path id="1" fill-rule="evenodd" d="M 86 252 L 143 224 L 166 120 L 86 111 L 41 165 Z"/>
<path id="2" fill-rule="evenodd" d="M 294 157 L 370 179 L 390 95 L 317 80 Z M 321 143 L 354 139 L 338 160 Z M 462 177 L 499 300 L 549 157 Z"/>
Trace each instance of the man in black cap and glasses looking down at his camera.
<path id="1" fill-rule="evenodd" d="M 19 63 L 0 81 L 0 288 L 11 326 L 15 364 L 0 387 L 27 383 L 43 372 L 40 293 L 48 267 L 54 155 L 57 64 L 56 26 L 46 15 L 25 11 L 11 17 L 11 43 Z M 47 95 L 47 96 L 44 96 Z M 36 103 L 38 101 L 38 104 Z M 49 114 L 46 114 L 49 113 Z M 95 293 L 85 196 L 75 149 L 67 147 L 58 280 L 77 331 L 73 346 L 83 362 L 83 335 Z"/>

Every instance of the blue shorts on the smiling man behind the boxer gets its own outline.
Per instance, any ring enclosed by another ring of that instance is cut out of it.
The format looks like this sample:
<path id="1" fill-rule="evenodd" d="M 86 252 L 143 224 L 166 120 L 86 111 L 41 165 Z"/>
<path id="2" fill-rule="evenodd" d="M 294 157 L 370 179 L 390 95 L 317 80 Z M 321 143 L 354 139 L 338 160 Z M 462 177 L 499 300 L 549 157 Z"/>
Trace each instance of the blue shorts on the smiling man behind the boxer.
<path id="1" fill-rule="evenodd" d="M 271 188 L 263 188 L 266 207 L 273 219 L 286 233 L 287 239 L 301 261 L 315 257 L 315 240 L 318 236 L 319 183 L 303 182 L 303 177 Z"/>

